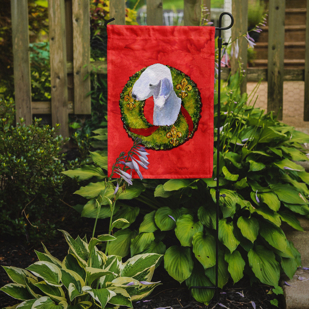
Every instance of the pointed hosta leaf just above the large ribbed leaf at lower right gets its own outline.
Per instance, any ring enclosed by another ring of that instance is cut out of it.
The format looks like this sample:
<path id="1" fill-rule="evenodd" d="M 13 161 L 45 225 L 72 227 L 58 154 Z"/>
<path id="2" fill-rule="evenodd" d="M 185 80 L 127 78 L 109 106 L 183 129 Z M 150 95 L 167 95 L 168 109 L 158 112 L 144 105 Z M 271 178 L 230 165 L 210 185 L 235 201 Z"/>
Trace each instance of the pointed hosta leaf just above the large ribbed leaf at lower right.
<path id="1" fill-rule="evenodd" d="M 284 252 L 286 249 L 286 236 L 280 227 L 267 222 L 260 224 L 260 235 L 274 248 Z"/>

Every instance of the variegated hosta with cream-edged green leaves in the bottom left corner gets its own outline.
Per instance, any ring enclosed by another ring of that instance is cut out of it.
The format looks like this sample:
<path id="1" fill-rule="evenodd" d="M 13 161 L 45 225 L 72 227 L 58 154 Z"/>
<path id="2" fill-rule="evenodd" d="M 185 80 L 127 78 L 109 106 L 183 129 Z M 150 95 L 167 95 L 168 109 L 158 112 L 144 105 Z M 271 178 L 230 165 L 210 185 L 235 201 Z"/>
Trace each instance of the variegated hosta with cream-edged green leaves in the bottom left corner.
<path id="1" fill-rule="evenodd" d="M 150 282 L 159 254 L 139 254 L 122 262 L 120 256 L 106 256 L 96 247 L 114 241 L 112 235 L 87 242 L 86 237 L 74 239 L 62 233 L 69 245 L 62 261 L 43 245 L 44 253 L 36 251 L 39 261 L 26 269 L 3 267 L 13 283 L 0 290 L 21 301 L 17 308 L 132 308 L 132 301 L 146 297 L 160 284 Z"/>

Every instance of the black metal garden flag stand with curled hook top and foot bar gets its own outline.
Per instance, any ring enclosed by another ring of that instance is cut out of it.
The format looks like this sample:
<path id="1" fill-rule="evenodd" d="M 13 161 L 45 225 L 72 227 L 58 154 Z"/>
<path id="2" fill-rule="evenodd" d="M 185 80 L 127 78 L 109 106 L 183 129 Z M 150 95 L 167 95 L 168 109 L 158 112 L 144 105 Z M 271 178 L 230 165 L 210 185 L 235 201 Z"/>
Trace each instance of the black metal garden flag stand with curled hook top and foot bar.
<path id="1" fill-rule="evenodd" d="M 231 24 L 228 27 L 222 26 L 222 17 L 224 15 L 229 15 L 231 17 Z M 221 48 L 222 45 L 227 45 L 228 43 L 222 43 L 221 31 L 232 28 L 234 24 L 234 17 L 229 12 L 221 13 L 219 17 L 219 27 L 216 27 L 218 30 L 218 121 L 217 121 L 217 185 L 216 185 L 216 202 L 217 202 L 217 212 L 216 212 L 216 281 L 215 286 L 191 286 L 189 288 L 190 292 L 192 289 L 215 289 L 216 290 L 216 299 L 218 300 L 218 261 L 219 261 L 219 199 L 220 197 L 225 197 L 225 194 L 220 195 L 219 189 L 219 164 L 220 164 L 220 89 L 221 89 Z"/>

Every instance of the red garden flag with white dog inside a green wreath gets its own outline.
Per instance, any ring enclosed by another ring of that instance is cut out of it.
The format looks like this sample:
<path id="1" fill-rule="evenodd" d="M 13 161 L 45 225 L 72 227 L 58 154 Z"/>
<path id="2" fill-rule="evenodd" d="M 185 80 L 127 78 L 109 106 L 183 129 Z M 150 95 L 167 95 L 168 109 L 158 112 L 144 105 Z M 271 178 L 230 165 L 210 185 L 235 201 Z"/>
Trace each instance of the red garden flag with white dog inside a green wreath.
<path id="1" fill-rule="evenodd" d="M 150 154 L 144 178 L 212 177 L 215 28 L 108 25 L 107 32 L 108 175 L 139 137 Z"/>

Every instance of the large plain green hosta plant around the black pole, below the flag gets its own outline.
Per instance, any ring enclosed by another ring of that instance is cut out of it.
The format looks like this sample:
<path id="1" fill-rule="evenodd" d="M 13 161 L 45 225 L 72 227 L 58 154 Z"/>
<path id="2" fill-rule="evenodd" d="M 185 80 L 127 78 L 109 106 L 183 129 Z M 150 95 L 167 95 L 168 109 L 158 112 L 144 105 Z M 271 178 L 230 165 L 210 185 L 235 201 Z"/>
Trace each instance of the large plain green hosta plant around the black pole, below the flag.
<path id="1" fill-rule="evenodd" d="M 271 112 L 246 105 L 239 82 L 234 75 L 221 90 L 220 165 L 214 149 L 214 177 L 158 184 L 154 202 L 159 207 L 145 215 L 137 235 L 129 228 L 116 231 L 112 254 L 164 254 L 164 267 L 177 281 L 214 286 L 218 168 L 220 194 L 226 195 L 219 199 L 218 286 L 246 274 L 280 290 L 280 274 L 293 277 L 300 254 L 281 224 L 302 231 L 296 216 L 309 215 L 309 173 L 295 162 L 307 160 L 302 143 L 309 136 Z M 192 294 L 209 303 L 214 291 L 193 289 Z"/>

